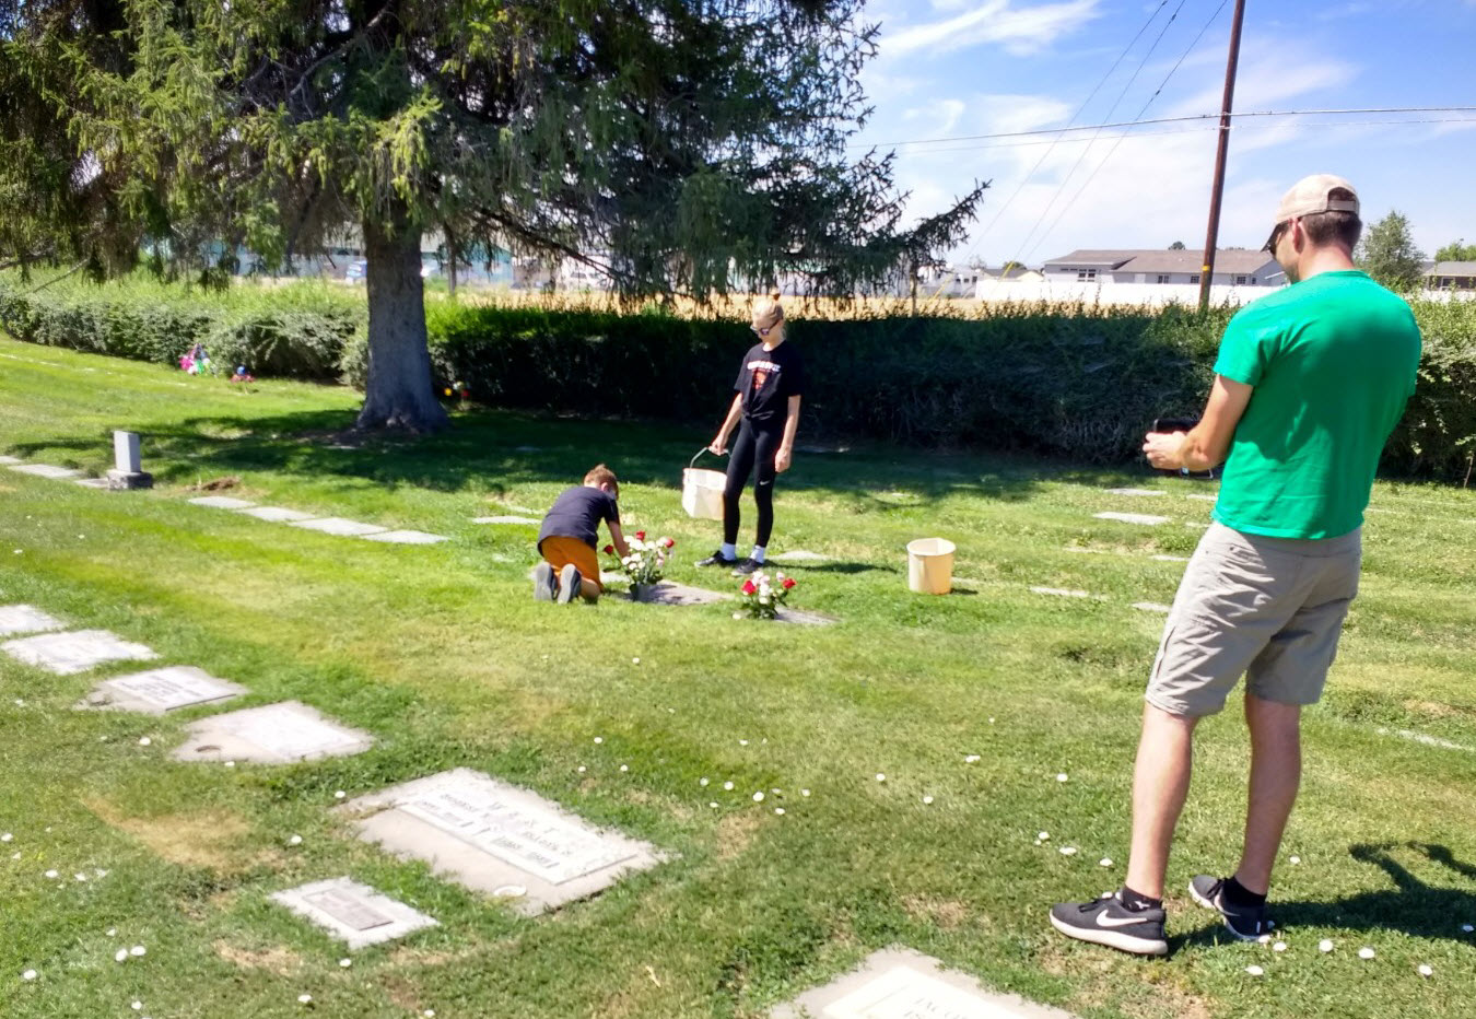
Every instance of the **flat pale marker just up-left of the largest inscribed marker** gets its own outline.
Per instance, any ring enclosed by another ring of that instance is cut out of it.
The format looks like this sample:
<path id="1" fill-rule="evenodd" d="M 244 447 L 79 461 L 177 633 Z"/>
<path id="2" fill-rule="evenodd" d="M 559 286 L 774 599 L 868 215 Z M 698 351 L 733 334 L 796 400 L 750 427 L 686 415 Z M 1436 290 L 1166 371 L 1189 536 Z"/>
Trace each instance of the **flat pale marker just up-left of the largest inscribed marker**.
<path id="1" fill-rule="evenodd" d="M 345 758 L 370 746 L 373 737 L 368 732 L 339 725 L 301 701 L 285 700 L 193 722 L 174 759 L 295 764 Z"/>

